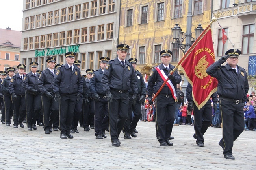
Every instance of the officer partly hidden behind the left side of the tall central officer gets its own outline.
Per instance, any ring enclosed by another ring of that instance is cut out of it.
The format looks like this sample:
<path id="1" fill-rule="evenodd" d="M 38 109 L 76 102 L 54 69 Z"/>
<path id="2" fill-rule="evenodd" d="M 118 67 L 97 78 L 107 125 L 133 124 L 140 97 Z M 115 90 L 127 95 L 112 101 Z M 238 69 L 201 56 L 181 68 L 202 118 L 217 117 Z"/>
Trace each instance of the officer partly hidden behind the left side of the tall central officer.
<path id="1" fill-rule="evenodd" d="M 108 100 L 102 87 L 102 75 L 110 58 L 100 57 L 100 68 L 93 72 L 90 81 L 90 92 L 94 98 L 95 106 L 95 136 L 96 139 L 106 138 L 105 129 L 108 127 Z"/>

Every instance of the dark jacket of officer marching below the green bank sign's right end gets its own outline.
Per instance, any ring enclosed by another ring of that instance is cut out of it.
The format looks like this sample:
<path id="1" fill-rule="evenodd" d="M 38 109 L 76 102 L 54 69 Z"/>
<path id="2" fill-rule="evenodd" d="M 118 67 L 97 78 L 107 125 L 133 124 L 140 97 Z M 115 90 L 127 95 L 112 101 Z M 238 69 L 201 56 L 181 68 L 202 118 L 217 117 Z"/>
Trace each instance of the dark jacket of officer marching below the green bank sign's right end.
<path id="1" fill-rule="evenodd" d="M 74 65 L 74 64 L 73 64 Z M 83 94 L 83 75 L 80 69 L 74 65 L 73 71 L 68 64 L 60 66 L 53 79 L 53 91 L 60 94 Z"/>

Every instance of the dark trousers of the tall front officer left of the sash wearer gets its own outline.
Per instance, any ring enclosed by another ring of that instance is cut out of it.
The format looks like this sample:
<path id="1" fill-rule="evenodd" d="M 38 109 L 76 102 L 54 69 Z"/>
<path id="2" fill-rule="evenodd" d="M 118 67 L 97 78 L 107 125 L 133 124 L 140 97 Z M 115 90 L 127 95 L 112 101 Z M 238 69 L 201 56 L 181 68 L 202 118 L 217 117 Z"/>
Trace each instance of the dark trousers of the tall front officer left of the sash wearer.
<path id="1" fill-rule="evenodd" d="M 111 142 L 118 141 L 128 115 L 128 91 L 110 90 L 113 102 L 109 103 L 109 132 Z"/>

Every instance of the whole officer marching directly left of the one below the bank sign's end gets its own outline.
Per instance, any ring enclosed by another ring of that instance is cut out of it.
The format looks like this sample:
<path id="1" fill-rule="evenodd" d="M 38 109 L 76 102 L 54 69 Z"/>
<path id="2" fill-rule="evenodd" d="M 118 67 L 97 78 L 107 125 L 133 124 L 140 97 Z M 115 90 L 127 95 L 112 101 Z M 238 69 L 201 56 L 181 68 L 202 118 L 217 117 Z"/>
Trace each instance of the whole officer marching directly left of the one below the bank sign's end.
<path id="1" fill-rule="evenodd" d="M 54 68 L 56 59 L 50 57 L 46 60 L 48 68 L 41 72 L 39 77 L 39 90 L 42 93 L 42 111 L 43 112 L 43 123 L 45 125 L 45 134 L 52 132 L 52 123 L 56 119 L 59 113 L 59 102 L 54 101 L 54 93 L 52 82 L 56 69 Z"/>

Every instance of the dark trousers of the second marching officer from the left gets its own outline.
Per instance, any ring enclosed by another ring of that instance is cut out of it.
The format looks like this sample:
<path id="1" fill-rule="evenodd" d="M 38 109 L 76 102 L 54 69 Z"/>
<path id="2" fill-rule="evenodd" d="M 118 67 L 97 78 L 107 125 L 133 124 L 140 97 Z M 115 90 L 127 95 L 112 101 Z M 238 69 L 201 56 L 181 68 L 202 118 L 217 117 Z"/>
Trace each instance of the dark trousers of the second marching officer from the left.
<path id="1" fill-rule="evenodd" d="M 4 108 L 6 124 L 11 124 L 11 117 L 13 117 L 13 102 L 11 101 L 11 95 L 4 93 Z"/>

